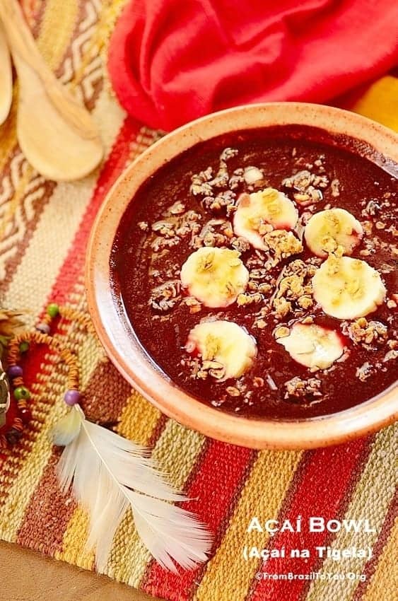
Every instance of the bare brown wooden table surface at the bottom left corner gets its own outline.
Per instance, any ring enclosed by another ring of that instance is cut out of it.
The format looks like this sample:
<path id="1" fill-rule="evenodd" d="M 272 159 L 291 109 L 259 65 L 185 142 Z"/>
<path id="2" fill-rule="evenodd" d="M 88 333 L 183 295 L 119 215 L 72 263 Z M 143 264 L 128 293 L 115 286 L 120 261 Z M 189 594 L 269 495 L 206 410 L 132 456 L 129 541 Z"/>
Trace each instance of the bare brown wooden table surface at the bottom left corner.
<path id="1" fill-rule="evenodd" d="M 1 601 L 154 601 L 106 576 L 0 542 Z"/>

